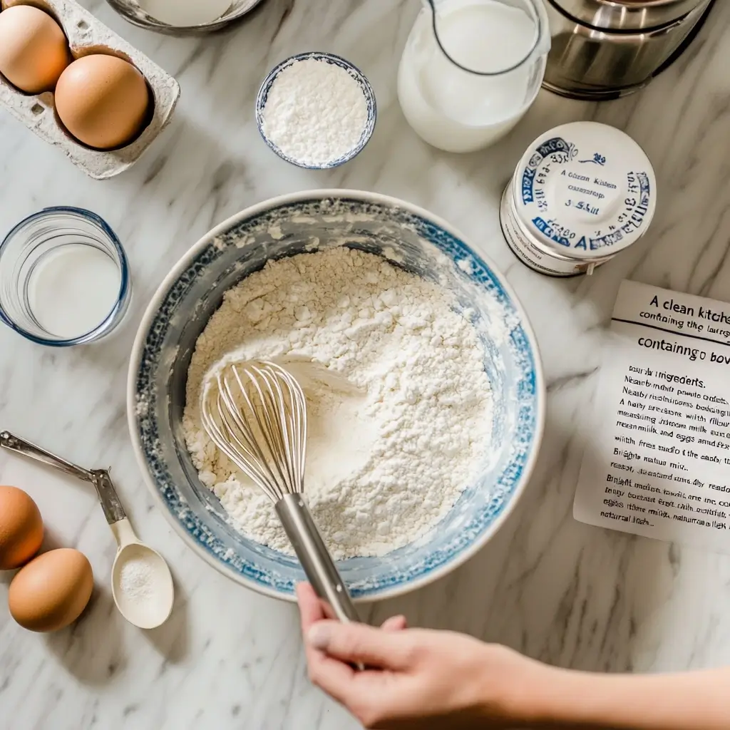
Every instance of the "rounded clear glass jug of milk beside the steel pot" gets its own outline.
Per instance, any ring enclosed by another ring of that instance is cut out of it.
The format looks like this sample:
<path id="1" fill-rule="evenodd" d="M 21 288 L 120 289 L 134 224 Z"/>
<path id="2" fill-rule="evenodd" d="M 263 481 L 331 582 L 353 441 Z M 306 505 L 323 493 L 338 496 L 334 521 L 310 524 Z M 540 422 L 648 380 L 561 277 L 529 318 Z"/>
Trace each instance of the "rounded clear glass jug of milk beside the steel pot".
<path id="1" fill-rule="evenodd" d="M 543 0 L 426 0 L 398 72 L 405 118 L 429 145 L 471 152 L 537 96 L 550 50 Z"/>

